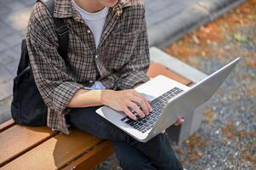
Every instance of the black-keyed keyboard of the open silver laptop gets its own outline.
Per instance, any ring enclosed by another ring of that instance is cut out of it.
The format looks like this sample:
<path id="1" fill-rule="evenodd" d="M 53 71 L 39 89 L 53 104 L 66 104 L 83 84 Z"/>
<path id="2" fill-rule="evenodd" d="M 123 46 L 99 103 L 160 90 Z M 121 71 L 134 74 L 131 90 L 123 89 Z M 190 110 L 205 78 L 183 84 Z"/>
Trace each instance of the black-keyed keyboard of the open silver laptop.
<path id="1" fill-rule="evenodd" d="M 180 94 L 181 92 L 183 92 L 183 90 L 180 88 L 172 88 L 168 92 L 151 101 L 153 111 L 148 116 L 141 118 L 135 111 L 133 111 L 134 116 L 137 117 L 136 121 L 131 119 L 129 116 L 122 117 L 121 121 L 136 128 L 141 133 L 145 133 L 154 126 L 157 118 L 161 115 L 163 108 L 168 104 L 168 100 L 174 98 L 174 96 Z"/>

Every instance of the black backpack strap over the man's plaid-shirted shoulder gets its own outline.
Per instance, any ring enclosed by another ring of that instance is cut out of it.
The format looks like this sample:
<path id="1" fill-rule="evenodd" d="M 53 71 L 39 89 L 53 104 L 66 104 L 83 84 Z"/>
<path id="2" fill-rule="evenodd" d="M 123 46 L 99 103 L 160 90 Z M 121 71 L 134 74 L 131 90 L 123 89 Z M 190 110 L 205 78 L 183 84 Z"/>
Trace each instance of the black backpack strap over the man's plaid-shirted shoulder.
<path id="1" fill-rule="evenodd" d="M 67 50 L 69 46 L 69 31 L 68 27 L 65 26 L 65 22 L 63 19 L 54 18 L 54 0 L 37 0 L 37 2 L 42 2 L 45 7 L 48 9 L 48 12 L 52 15 L 54 20 L 54 25 L 56 26 L 57 34 L 58 34 L 58 43 L 59 48 L 58 52 L 62 59 L 65 61 L 65 65 L 68 64 L 67 62 Z"/>

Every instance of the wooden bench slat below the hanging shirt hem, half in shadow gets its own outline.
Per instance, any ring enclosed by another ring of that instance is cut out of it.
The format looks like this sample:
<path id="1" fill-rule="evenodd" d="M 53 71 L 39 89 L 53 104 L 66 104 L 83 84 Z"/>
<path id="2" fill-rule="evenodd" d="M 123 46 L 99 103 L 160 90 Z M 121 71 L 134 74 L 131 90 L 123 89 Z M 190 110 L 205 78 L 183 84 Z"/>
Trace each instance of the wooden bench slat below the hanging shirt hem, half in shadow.
<path id="1" fill-rule="evenodd" d="M 59 133 L 9 162 L 2 169 L 58 169 L 77 159 L 100 141 L 101 139 L 78 130 L 72 131 L 70 136 Z"/>

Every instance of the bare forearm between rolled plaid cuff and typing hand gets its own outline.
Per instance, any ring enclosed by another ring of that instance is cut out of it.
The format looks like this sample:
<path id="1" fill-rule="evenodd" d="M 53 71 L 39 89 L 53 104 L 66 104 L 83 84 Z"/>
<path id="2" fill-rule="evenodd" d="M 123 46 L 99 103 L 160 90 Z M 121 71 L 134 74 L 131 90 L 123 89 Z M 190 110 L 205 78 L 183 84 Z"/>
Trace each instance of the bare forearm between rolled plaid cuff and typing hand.
<path id="1" fill-rule="evenodd" d="M 110 90 L 85 90 L 80 89 L 72 97 L 67 107 L 90 107 L 104 105 L 105 94 Z"/>

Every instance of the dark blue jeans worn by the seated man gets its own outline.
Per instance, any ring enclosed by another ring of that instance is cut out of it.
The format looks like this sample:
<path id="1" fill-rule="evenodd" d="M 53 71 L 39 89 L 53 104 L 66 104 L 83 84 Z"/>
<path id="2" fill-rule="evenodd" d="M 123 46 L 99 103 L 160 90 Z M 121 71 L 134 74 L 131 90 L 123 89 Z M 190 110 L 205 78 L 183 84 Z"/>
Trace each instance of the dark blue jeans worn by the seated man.
<path id="1" fill-rule="evenodd" d="M 98 108 L 71 109 L 66 120 L 83 132 L 111 140 L 122 169 L 183 169 L 174 155 L 167 134 L 160 133 L 146 143 L 139 142 L 96 114 Z"/>

